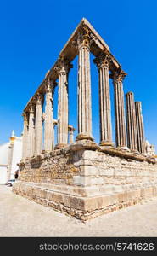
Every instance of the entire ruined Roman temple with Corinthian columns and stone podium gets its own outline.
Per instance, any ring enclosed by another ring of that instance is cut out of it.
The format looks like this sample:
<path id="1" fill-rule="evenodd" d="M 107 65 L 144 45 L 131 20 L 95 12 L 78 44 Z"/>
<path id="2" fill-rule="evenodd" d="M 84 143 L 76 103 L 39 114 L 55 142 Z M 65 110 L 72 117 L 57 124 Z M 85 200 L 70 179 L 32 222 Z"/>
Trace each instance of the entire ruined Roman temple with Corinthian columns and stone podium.
<path id="1" fill-rule="evenodd" d="M 99 143 L 94 142 L 92 131 L 90 52 L 98 68 Z M 68 77 L 76 55 L 78 134 L 74 141 Z M 145 150 L 142 105 L 134 102 L 132 92 L 126 94 L 125 112 L 125 77 L 109 46 L 83 18 L 24 109 L 23 156 L 14 193 L 83 221 L 157 195 L 157 162 Z M 115 144 L 109 79 L 115 94 Z M 54 89 L 59 90 L 57 119 L 53 119 Z"/>

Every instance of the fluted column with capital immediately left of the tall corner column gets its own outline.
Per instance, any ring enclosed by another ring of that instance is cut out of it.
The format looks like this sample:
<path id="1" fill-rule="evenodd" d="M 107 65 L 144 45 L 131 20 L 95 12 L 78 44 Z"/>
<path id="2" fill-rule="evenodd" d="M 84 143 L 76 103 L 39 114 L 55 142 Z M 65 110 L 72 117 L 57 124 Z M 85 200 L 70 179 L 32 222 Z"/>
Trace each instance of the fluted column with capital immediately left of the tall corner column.
<path id="1" fill-rule="evenodd" d="M 68 73 L 70 63 L 59 60 L 59 102 L 58 102 L 58 143 L 56 149 L 63 148 L 68 143 Z"/>

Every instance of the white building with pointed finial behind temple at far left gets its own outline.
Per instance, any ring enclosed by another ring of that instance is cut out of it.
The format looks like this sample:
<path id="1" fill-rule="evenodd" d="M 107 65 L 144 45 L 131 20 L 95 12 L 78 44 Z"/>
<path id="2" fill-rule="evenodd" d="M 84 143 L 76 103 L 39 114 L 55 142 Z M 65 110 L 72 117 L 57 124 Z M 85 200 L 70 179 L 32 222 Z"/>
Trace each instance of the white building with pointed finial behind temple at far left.
<path id="1" fill-rule="evenodd" d="M 0 184 L 14 179 L 14 172 L 18 170 L 17 164 L 22 158 L 22 136 L 16 137 L 14 131 L 8 143 L 0 145 Z"/>

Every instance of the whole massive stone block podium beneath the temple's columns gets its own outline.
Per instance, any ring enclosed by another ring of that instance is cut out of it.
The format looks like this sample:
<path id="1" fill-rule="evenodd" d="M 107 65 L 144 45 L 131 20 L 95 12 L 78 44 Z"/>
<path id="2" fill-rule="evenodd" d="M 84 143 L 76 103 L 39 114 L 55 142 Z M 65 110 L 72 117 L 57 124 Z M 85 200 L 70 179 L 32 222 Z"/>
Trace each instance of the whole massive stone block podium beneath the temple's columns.
<path id="1" fill-rule="evenodd" d="M 13 192 L 82 221 L 157 195 L 156 160 L 96 145 L 79 141 L 21 160 Z"/>

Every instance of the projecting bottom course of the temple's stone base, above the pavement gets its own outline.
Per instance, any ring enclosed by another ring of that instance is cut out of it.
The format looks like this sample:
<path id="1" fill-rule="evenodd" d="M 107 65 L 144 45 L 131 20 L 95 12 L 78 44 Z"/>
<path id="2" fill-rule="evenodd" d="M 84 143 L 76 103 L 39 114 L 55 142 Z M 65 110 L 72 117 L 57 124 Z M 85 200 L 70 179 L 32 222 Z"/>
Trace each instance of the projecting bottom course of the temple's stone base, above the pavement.
<path id="1" fill-rule="evenodd" d="M 14 184 L 13 192 L 45 207 L 53 207 L 58 212 L 79 218 L 81 221 L 130 207 L 157 195 L 157 184 L 112 193 L 107 192 L 106 189 L 106 193 L 100 195 L 93 195 L 93 189 L 91 196 L 85 197 L 64 193 L 64 189 L 64 186 L 60 186 L 60 191 L 57 191 L 56 188 L 52 189 L 41 183 L 17 182 Z M 66 189 L 68 191 L 68 188 Z M 87 193 L 86 189 L 81 189 L 81 192 Z"/>

